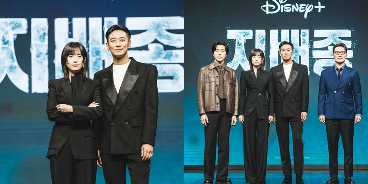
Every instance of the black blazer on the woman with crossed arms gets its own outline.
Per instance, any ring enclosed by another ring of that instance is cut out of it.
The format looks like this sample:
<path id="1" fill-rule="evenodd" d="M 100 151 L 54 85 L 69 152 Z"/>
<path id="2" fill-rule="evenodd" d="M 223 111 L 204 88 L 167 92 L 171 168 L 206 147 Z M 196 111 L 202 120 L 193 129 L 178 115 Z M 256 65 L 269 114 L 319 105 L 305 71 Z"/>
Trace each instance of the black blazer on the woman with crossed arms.
<path id="1" fill-rule="evenodd" d="M 74 98 L 70 81 L 62 81 L 62 78 L 49 81 L 46 112 L 55 124 L 46 157 L 58 156 L 69 137 L 75 159 L 97 159 L 96 134 L 90 120 L 102 116 L 101 87 L 98 81 L 78 79 L 78 95 Z M 98 102 L 99 107 L 88 107 L 93 101 Z M 73 113 L 59 113 L 55 107 L 58 104 L 73 106 Z"/>

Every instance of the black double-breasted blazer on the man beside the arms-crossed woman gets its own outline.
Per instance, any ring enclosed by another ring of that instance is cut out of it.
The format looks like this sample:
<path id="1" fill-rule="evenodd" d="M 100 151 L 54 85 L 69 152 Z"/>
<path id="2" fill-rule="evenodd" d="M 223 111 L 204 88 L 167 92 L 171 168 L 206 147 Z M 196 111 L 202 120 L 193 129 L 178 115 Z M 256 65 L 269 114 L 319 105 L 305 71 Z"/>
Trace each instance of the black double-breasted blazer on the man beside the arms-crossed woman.
<path id="1" fill-rule="evenodd" d="M 103 116 L 99 124 L 100 154 L 140 153 L 142 144 L 155 145 L 158 117 L 157 68 L 130 57 L 117 94 L 113 64 L 97 72 L 102 82 Z"/>

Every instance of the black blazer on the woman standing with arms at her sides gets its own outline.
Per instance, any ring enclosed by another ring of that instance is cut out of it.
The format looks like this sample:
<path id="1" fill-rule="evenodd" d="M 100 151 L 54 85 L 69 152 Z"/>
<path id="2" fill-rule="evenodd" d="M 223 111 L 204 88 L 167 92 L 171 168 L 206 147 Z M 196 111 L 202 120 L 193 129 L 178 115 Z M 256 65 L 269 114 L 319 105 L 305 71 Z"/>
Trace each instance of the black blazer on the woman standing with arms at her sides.
<path id="1" fill-rule="evenodd" d="M 273 78 L 272 73 L 257 70 L 242 71 L 240 74 L 239 115 L 249 116 L 256 108 L 258 118 L 267 119 L 273 116 Z M 267 98 L 268 94 L 268 98 Z"/>

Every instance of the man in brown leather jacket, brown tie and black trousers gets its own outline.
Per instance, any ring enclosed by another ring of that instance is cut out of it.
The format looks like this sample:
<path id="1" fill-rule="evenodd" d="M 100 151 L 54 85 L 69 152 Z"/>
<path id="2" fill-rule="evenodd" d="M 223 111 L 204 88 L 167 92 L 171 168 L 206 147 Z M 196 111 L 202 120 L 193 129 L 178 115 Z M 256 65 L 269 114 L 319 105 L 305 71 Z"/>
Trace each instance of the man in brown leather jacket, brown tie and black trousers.
<path id="1" fill-rule="evenodd" d="M 215 60 L 199 71 L 197 103 L 201 123 L 205 126 L 204 184 L 213 184 L 218 134 L 218 168 L 216 184 L 231 184 L 229 166 L 229 133 L 238 115 L 238 79 L 235 70 L 225 64 L 229 46 L 215 42 Z"/>

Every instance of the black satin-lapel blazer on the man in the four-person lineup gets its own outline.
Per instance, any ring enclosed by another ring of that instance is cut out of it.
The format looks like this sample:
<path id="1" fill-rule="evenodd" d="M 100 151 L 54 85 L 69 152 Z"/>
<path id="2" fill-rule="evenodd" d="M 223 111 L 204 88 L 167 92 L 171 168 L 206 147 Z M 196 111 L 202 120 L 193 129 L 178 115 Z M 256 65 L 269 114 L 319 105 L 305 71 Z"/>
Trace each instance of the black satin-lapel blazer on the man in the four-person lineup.
<path id="1" fill-rule="evenodd" d="M 301 112 L 308 112 L 307 66 L 293 61 L 288 82 L 286 82 L 283 64 L 272 67 L 270 71 L 275 84 L 276 117 L 300 117 Z"/>

